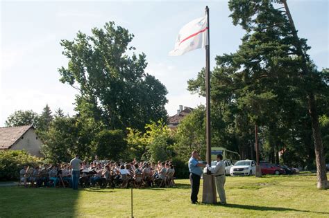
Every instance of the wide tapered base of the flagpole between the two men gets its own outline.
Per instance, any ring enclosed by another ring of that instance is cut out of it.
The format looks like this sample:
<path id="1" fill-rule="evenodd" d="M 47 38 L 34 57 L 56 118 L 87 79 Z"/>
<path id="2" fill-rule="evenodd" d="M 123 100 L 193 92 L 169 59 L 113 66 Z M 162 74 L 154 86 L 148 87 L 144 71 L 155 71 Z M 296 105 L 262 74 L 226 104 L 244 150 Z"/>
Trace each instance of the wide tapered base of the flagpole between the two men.
<path id="1" fill-rule="evenodd" d="M 203 174 L 202 203 L 217 203 L 216 184 L 213 175 Z"/>

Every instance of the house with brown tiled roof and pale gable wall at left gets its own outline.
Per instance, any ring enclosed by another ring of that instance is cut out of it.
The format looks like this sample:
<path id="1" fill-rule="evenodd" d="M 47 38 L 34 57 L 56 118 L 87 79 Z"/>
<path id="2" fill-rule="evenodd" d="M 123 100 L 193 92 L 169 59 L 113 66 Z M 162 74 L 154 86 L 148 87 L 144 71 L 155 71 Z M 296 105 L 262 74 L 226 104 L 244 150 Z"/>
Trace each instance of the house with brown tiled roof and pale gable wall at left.
<path id="1" fill-rule="evenodd" d="M 42 156 L 42 144 L 31 125 L 0 128 L 0 150 L 25 150 L 33 156 Z"/>

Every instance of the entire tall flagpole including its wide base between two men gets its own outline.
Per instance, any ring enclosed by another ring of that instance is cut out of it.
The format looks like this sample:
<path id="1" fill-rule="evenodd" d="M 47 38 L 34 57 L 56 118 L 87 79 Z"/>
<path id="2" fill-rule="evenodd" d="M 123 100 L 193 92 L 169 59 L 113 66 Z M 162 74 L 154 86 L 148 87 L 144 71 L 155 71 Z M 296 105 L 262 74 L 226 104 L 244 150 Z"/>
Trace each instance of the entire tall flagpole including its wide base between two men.
<path id="1" fill-rule="evenodd" d="M 208 28 L 208 45 L 205 46 L 205 102 L 206 102 L 206 120 L 205 135 L 207 141 L 207 157 L 208 165 L 211 165 L 211 131 L 210 131 L 210 25 L 209 25 L 209 8 L 205 7 L 205 15 L 207 16 Z M 203 174 L 203 203 L 216 203 L 216 188 L 214 185 L 214 176 L 207 169 L 207 174 Z"/>

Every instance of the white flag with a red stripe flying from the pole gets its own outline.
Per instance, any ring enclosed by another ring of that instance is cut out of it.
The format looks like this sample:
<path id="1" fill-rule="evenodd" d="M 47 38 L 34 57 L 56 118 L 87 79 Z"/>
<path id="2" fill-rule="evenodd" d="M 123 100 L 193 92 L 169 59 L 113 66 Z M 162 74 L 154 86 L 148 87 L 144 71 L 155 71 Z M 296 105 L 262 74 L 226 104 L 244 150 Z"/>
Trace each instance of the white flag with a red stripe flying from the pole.
<path id="1" fill-rule="evenodd" d="M 207 16 L 194 19 L 179 30 L 175 48 L 171 56 L 183 55 L 197 48 L 208 45 Z"/>

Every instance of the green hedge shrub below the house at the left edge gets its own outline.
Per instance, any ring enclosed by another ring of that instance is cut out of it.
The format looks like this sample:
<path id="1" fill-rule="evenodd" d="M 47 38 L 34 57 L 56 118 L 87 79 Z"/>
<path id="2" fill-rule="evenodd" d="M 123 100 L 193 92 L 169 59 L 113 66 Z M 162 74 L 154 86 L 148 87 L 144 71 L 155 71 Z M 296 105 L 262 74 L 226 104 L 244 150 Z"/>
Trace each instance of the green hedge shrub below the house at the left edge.
<path id="1" fill-rule="evenodd" d="M 8 150 L 0 151 L 0 181 L 19 179 L 19 170 L 24 165 L 39 165 L 42 158 L 31 156 L 25 151 Z"/>

